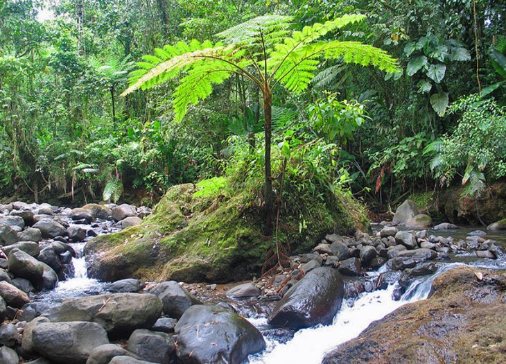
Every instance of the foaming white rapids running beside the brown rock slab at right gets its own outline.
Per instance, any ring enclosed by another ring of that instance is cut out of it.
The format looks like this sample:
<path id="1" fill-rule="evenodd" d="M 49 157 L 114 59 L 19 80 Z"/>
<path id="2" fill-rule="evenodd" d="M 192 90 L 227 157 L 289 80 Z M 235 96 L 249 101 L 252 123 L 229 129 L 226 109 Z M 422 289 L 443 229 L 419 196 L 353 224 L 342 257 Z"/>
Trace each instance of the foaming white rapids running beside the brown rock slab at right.
<path id="1" fill-rule="evenodd" d="M 396 284 L 390 284 L 383 291 L 363 293 L 355 300 L 344 300 L 331 325 L 319 325 L 299 330 L 292 340 L 284 344 L 278 343 L 272 338 L 265 338 L 267 342 L 265 352 L 250 356 L 248 363 L 319 364 L 326 352 L 341 343 L 356 338 L 371 322 L 380 320 L 408 302 L 428 297 L 435 277 L 457 265 L 457 263 L 444 265 L 434 275 L 417 279 L 408 287 L 399 301 L 392 299 Z M 267 323 L 266 318 L 255 318 L 251 321 L 257 327 L 263 327 Z"/>

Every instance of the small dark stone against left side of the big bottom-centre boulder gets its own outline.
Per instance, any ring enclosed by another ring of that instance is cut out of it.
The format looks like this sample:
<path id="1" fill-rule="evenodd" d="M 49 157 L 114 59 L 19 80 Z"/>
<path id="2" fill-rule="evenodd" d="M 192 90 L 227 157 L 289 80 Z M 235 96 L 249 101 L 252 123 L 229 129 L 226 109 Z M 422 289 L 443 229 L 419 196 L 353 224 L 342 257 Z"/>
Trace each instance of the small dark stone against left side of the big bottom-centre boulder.
<path id="1" fill-rule="evenodd" d="M 129 352 L 153 363 L 168 363 L 175 352 L 175 344 L 168 333 L 137 329 L 128 339 Z"/>

